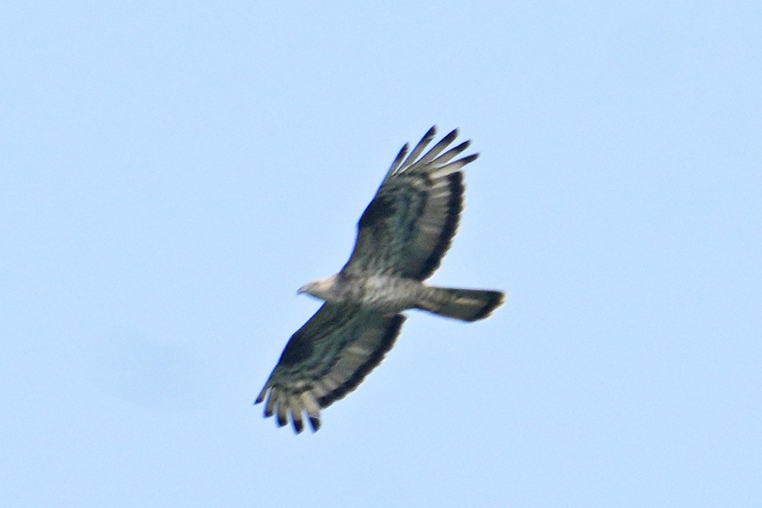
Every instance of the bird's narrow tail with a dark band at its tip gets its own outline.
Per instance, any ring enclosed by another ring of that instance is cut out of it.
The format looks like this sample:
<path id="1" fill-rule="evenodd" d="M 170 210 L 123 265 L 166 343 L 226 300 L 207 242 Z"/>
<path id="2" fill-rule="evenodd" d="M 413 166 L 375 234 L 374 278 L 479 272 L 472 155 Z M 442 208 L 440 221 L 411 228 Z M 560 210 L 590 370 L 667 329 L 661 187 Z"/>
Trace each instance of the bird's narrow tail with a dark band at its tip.
<path id="1" fill-rule="evenodd" d="M 462 321 L 484 319 L 504 302 L 505 295 L 488 289 L 427 287 L 417 308 Z"/>

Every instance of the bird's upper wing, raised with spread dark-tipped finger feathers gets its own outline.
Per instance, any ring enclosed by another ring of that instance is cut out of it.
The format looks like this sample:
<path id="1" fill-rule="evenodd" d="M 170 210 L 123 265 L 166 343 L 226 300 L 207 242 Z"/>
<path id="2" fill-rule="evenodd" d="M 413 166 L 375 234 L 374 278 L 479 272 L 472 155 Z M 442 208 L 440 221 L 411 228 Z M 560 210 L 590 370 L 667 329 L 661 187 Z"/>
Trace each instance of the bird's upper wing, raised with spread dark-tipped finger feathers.
<path id="1" fill-rule="evenodd" d="M 436 126 L 431 127 L 407 158 L 408 145 L 402 147 L 357 222 L 354 251 L 343 270 L 385 271 L 417 280 L 437 270 L 463 209 L 460 169 L 479 154 L 453 161 L 470 141 L 444 152 L 458 136 L 455 129 L 421 156 L 436 133 Z"/>

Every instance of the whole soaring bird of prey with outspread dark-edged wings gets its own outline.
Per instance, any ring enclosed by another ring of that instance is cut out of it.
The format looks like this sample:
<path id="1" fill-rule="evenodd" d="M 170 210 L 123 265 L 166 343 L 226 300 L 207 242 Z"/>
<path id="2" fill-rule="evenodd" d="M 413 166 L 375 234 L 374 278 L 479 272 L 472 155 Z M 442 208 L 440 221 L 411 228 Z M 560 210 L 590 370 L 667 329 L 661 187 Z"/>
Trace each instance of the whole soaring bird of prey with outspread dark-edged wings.
<path id="1" fill-rule="evenodd" d="M 392 348 L 411 308 L 461 321 L 486 318 L 504 301 L 500 291 L 451 289 L 423 281 L 439 267 L 463 209 L 463 166 L 470 141 L 447 149 L 457 129 L 426 152 L 431 127 L 408 155 L 405 144 L 357 223 L 354 250 L 341 270 L 298 293 L 324 301 L 293 334 L 255 404 L 296 433 L 306 414 L 312 432 L 320 410 L 357 388 Z M 447 151 L 446 151 L 447 150 Z M 406 156 L 407 155 L 407 156 Z M 269 392 L 269 395 L 268 395 Z"/>

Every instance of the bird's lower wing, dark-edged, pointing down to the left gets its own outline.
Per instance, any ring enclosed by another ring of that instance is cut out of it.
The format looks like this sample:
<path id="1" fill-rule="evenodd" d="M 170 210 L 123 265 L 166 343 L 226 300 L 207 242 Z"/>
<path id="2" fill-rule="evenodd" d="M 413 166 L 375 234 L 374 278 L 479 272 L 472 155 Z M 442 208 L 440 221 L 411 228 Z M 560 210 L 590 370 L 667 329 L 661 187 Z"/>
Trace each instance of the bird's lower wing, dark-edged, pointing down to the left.
<path id="1" fill-rule="evenodd" d="M 325 303 L 286 344 L 255 404 L 267 404 L 264 416 L 277 414 L 283 427 L 289 415 L 296 433 L 307 413 L 312 432 L 320 428 L 320 410 L 357 388 L 392 348 L 403 315 L 382 315 L 358 307 Z"/>

